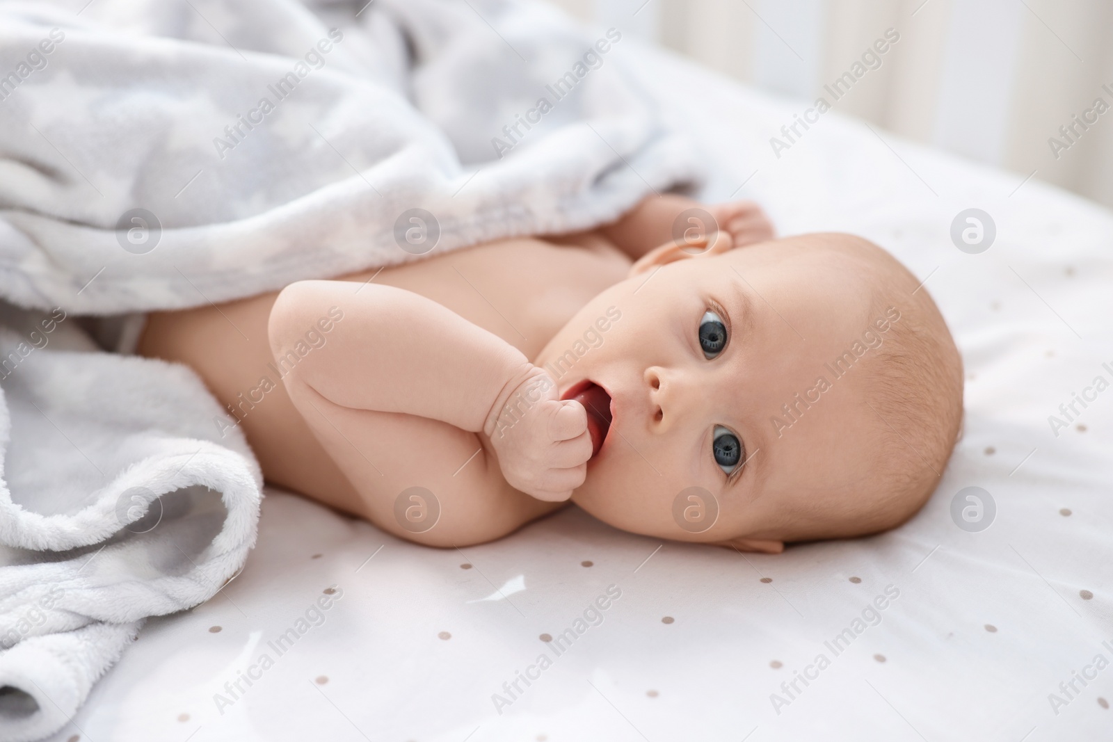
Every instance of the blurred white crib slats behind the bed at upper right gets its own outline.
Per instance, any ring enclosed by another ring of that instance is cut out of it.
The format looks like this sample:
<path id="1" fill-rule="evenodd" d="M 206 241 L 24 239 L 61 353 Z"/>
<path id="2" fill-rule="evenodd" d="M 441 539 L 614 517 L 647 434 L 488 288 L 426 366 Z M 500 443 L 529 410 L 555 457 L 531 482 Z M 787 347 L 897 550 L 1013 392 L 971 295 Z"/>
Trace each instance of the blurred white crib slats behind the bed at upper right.
<path id="1" fill-rule="evenodd" d="M 840 111 L 1113 206 L 1111 0 L 553 1 L 809 102 L 893 28 Z"/>

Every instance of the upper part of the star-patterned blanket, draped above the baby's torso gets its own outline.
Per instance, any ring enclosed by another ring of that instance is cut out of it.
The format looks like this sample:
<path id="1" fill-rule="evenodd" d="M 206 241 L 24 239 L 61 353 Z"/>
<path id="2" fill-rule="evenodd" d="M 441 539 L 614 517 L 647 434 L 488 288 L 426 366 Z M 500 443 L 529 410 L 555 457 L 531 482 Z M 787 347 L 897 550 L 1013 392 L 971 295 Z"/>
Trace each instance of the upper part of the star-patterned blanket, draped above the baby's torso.
<path id="1" fill-rule="evenodd" d="M 472 4 L 378 0 L 361 16 L 397 19 L 402 41 L 378 50 L 383 67 L 412 66 L 402 90 L 362 73 L 361 19 L 327 28 L 283 0 L 129 3 L 130 26 L 174 31 L 160 37 L 93 23 L 101 3 L 66 27 L 17 6 L 4 63 L 52 51 L 0 100 L 21 132 L 3 142 L 3 297 L 80 314 L 198 306 L 590 228 L 697 177 L 687 140 L 623 75 L 620 30 Z M 272 10 L 284 44 L 253 29 Z M 226 21 L 217 43 L 200 41 L 206 18 Z M 416 248 L 400 238 L 413 209 L 435 233 Z"/>

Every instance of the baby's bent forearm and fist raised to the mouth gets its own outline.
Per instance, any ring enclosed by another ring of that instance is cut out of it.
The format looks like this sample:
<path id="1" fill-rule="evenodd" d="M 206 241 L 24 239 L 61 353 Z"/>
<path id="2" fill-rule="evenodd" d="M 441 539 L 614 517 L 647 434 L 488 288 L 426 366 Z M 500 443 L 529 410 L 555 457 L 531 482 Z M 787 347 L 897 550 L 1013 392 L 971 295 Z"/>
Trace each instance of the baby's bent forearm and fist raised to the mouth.
<path id="1" fill-rule="evenodd" d="M 344 321 L 294 366 L 287 387 L 305 385 L 352 410 L 412 415 L 480 434 L 506 482 L 539 499 L 567 499 L 583 483 L 591 455 L 583 407 L 558 400 L 552 379 L 516 348 L 417 294 L 349 281 L 293 284 L 270 313 L 275 357 L 332 307 Z M 293 388 L 290 396 L 298 404 Z M 515 409 L 509 417 L 508 403 Z M 431 457 L 441 453 L 436 441 L 413 445 Z"/>

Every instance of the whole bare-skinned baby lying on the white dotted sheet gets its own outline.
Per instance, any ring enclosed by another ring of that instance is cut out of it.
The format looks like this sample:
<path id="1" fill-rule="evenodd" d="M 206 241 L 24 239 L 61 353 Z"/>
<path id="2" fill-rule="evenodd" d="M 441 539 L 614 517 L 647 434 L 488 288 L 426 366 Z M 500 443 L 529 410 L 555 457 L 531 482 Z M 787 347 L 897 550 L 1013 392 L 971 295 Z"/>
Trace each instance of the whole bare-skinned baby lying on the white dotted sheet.
<path id="1" fill-rule="evenodd" d="M 155 314 L 139 349 L 200 374 L 267 479 L 422 544 L 569 499 L 740 551 L 899 525 L 962 419 L 927 290 L 861 238 L 703 208 Z"/>

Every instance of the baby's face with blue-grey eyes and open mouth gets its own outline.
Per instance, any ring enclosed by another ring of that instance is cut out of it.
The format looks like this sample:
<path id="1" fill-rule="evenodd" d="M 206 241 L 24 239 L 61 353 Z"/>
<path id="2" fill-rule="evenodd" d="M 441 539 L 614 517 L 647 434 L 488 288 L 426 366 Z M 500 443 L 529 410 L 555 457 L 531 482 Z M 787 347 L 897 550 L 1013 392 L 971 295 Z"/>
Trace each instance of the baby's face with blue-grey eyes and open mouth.
<path id="1" fill-rule="evenodd" d="M 853 496 L 880 422 L 865 373 L 830 365 L 884 333 L 864 271 L 800 239 L 650 267 L 545 346 L 562 398 L 595 384 L 611 400 L 577 504 L 624 531 L 777 551 L 776 523 Z"/>

